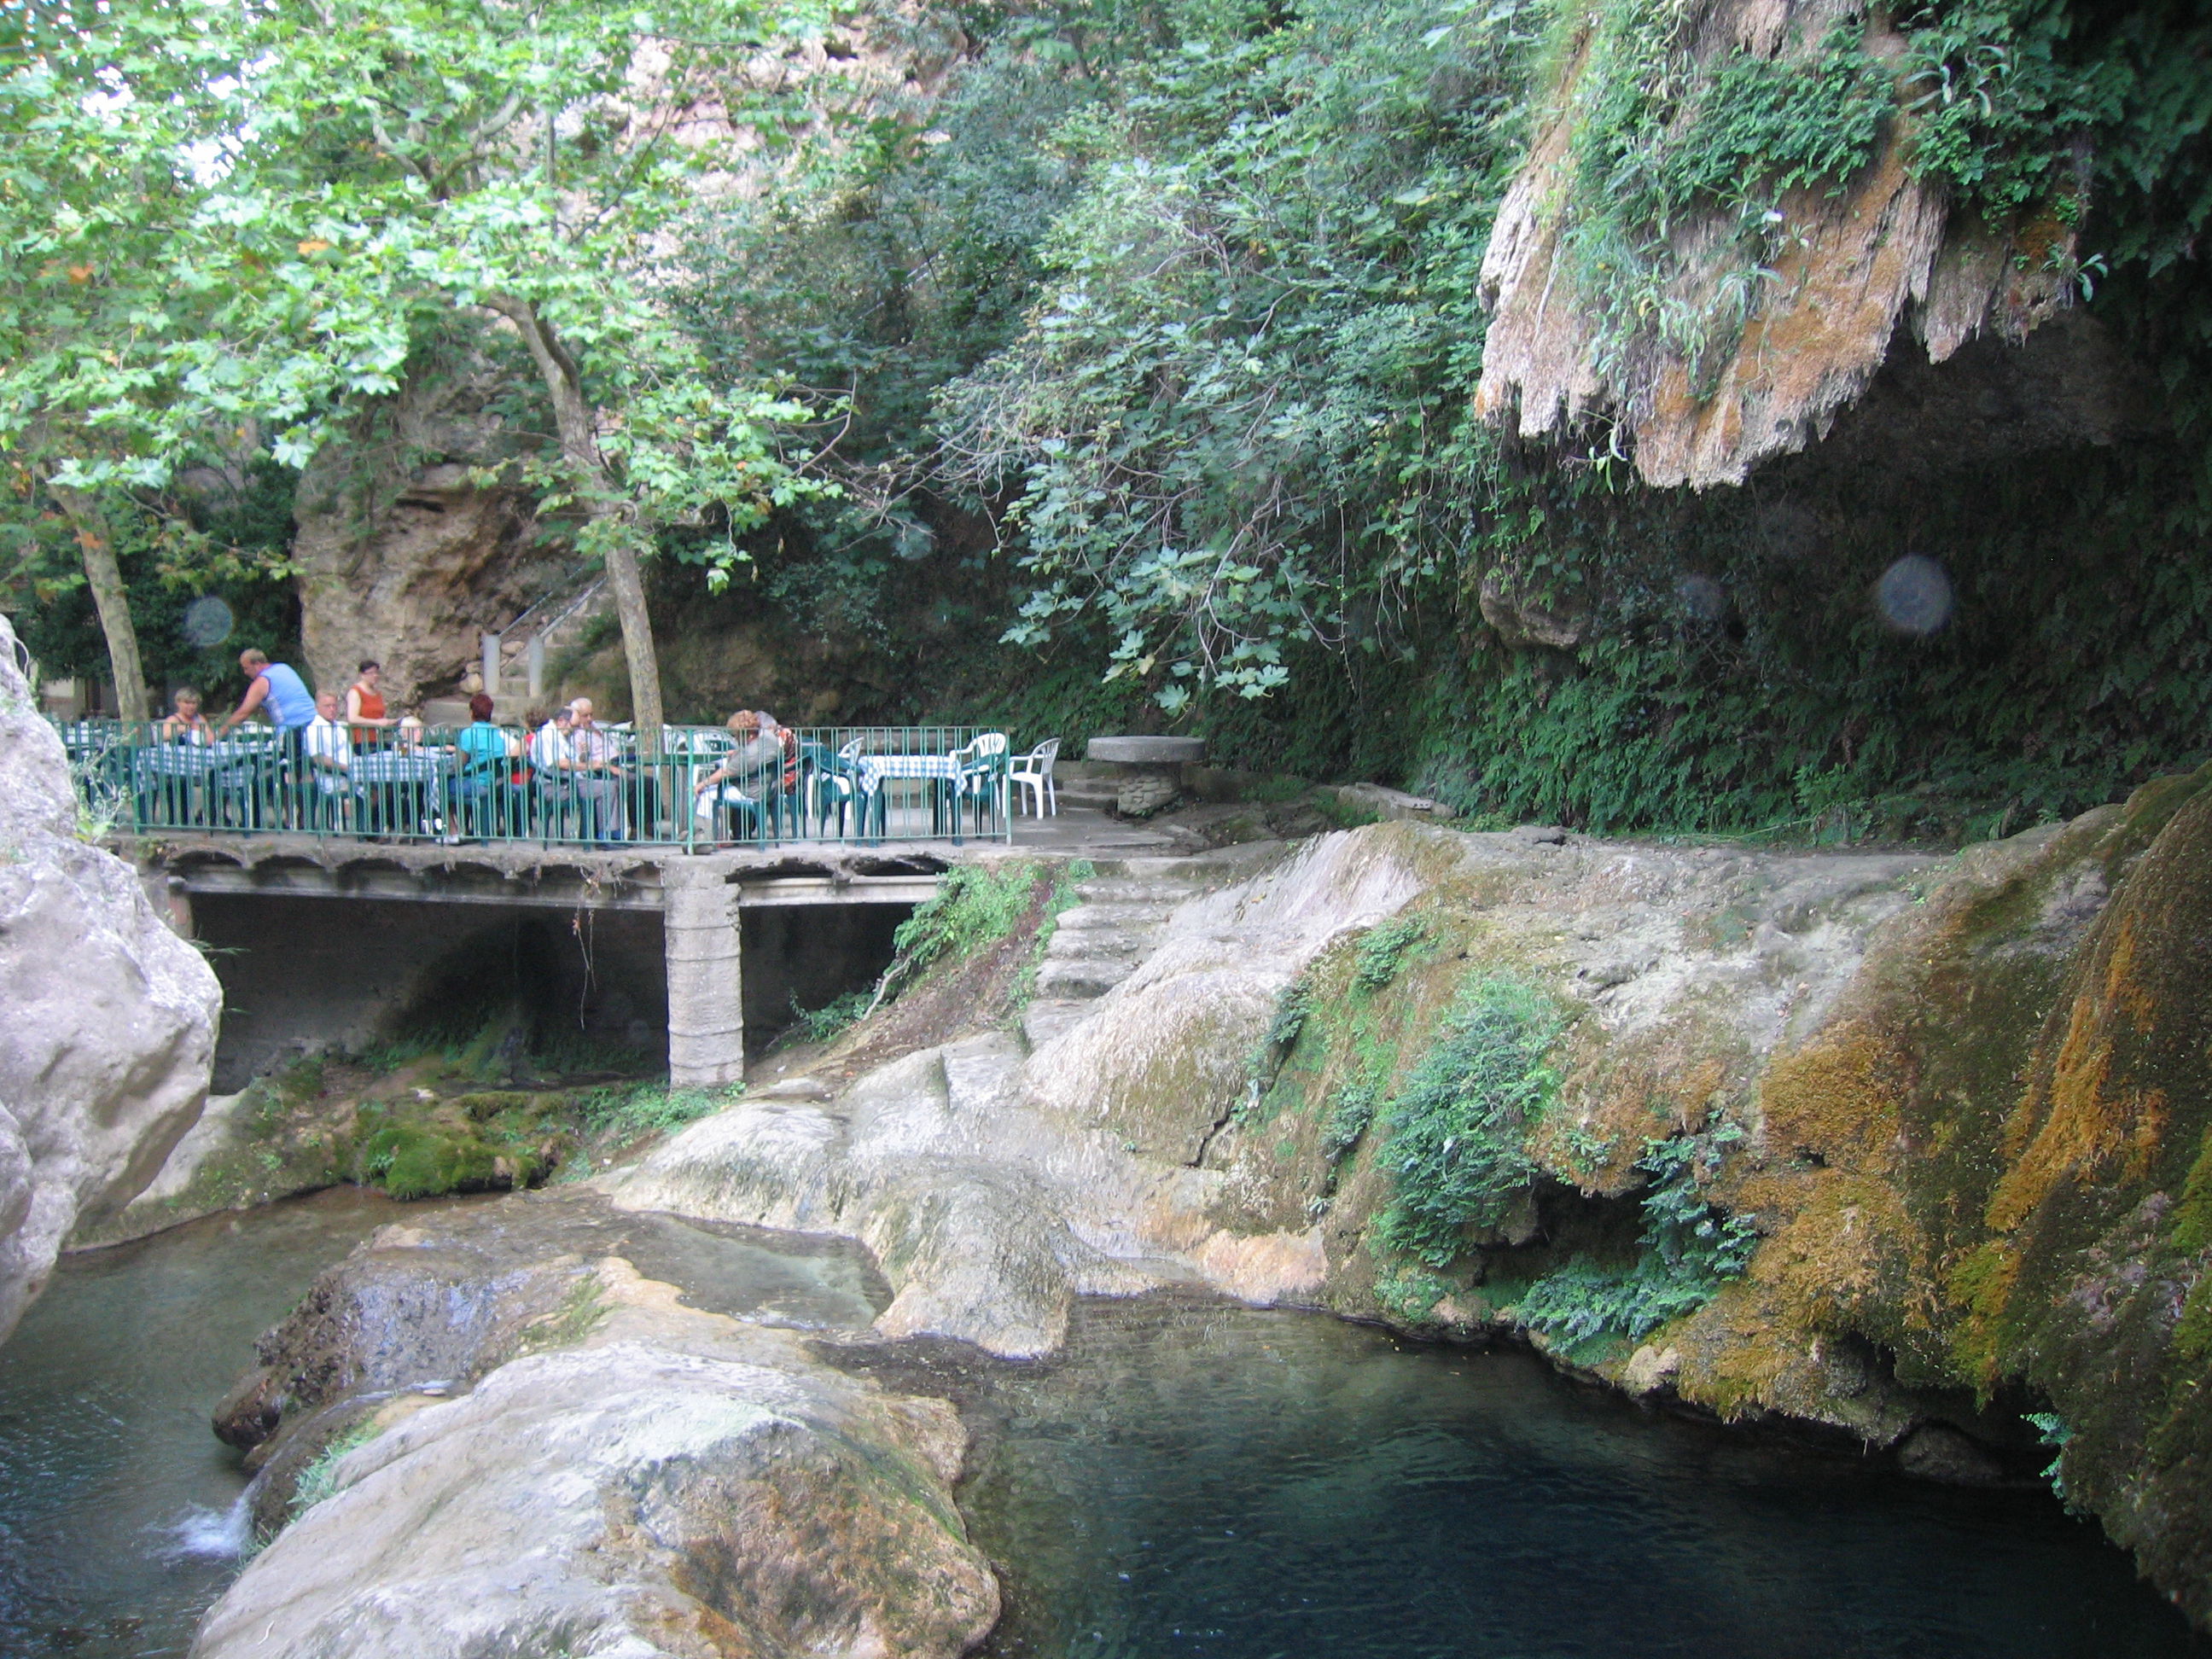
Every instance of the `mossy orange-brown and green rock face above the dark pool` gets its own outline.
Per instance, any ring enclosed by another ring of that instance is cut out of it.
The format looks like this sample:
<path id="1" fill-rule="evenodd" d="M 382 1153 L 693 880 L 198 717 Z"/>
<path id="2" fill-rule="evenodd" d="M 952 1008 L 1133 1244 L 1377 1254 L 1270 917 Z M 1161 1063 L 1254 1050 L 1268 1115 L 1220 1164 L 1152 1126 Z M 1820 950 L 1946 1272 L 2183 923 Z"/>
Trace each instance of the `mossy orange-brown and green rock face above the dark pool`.
<path id="1" fill-rule="evenodd" d="M 1916 869 L 1433 867 L 1279 995 L 1212 1217 L 1318 1225 L 1340 1312 L 1907 1467 L 2039 1467 L 2039 1411 L 2212 1619 L 2208 858 L 2192 774 Z"/>

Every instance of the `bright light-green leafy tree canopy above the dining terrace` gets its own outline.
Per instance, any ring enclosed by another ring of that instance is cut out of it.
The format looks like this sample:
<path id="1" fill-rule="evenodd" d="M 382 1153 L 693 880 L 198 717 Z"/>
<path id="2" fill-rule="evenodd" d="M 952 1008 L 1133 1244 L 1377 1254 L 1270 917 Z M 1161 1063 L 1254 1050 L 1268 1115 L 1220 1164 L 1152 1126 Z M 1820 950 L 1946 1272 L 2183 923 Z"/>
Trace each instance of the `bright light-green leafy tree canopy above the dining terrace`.
<path id="1" fill-rule="evenodd" d="M 608 557 L 617 602 L 617 566 L 670 522 L 728 526 L 710 555 L 728 568 L 737 533 L 812 489 L 779 447 L 807 411 L 710 374 L 670 323 L 672 221 L 801 117 L 781 46 L 818 22 L 754 0 L 18 13 L 0 82 L 18 498 L 155 489 L 259 449 L 303 467 L 456 314 L 498 316 L 555 416 L 529 482 Z"/>

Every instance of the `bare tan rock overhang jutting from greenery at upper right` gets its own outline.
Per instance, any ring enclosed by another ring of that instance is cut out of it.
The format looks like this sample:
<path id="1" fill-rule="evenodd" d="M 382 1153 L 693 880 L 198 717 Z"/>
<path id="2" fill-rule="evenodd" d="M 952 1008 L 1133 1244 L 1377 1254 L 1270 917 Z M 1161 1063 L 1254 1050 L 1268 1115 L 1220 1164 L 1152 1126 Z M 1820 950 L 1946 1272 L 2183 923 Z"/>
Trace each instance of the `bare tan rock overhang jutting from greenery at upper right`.
<path id="1" fill-rule="evenodd" d="M 1710 71 L 1730 53 L 1809 55 L 1849 15 L 1829 0 L 1719 0 L 1679 11 L 1686 62 Z M 1896 62 L 1905 42 L 1880 13 L 1867 51 Z M 1582 24 L 1548 126 L 1498 212 L 1482 261 L 1493 319 L 1475 409 L 1524 436 L 1564 434 L 1613 416 L 1648 484 L 1741 484 L 1767 456 L 1823 438 L 1911 336 L 1942 363 L 1980 334 L 2022 341 L 2068 303 L 2073 232 L 2053 221 L 1982 228 L 1953 215 L 1938 186 L 1907 166 L 1909 122 L 1893 115 L 1874 159 L 1840 188 L 1787 190 L 1772 263 L 1752 274 L 1741 330 L 1721 290 L 1741 281 L 1732 208 L 1690 212 L 1668 230 L 1663 305 L 1708 314 L 1719 338 L 1686 354 L 1648 334 L 1601 343 L 1597 296 L 1566 248 L 1577 122 L 1604 73 Z M 1683 69 L 1679 73 L 1701 73 Z M 1606 349 L 1599 349 L 1606 345 Z"/>

